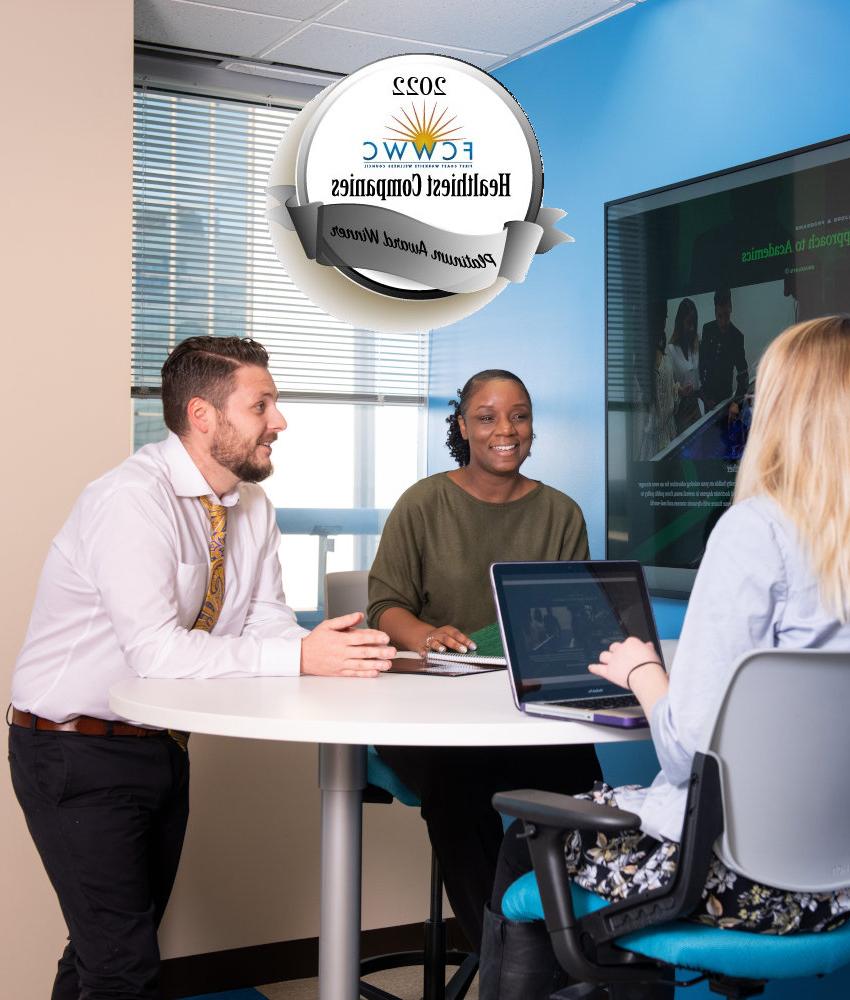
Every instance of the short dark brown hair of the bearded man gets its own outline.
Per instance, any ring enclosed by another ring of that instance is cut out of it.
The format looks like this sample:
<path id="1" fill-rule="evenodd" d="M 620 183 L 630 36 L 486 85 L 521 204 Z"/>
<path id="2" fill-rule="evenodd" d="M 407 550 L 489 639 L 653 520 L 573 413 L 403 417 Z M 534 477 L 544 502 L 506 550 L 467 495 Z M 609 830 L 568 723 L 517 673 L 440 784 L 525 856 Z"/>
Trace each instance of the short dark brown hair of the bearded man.
<path id="1" fill-rule="evenodd" d="M 188 337 L 162 366 L 162 416 L 175 434 L 189 429 L 186 407 L 200 396 L 223 410 L 235 388 L 234 375 L 243 365 L 268 368 L 262 344 L 248 337 Z"/>

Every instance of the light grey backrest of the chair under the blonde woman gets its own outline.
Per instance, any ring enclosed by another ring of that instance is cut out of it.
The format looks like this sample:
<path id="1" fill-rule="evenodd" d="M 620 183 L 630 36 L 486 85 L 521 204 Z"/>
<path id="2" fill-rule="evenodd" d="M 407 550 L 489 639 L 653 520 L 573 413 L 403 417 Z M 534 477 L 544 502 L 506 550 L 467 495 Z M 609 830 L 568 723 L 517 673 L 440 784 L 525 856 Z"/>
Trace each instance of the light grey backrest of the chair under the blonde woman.
<path id="1" fill-rule="evenodd" d="M 850 651 L 744 656 L 708 751 L 720 762 L 732 869 L 802 892 L 850 886 Z"/>

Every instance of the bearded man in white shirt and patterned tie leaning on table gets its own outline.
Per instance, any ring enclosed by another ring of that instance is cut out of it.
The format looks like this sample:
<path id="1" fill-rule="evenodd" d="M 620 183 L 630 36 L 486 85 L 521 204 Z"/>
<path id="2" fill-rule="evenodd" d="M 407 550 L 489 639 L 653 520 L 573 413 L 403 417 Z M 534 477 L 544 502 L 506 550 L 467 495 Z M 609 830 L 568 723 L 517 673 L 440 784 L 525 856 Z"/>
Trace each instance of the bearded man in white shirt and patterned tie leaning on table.
<path id="1" fill-rule="evenodd" d="M 159 996 L 157 927 L 188 817 L 185 734 L 120 721 L 124 677 L 374 677 L 362 616 L 300 628 L 254 485 L 285 430 L 265 349 L 192 337 L 162 369 L 169 436 L 91 483 L 53 540 L 12 682 L 9 759 L 68 924 L 52 1000 Z"/>

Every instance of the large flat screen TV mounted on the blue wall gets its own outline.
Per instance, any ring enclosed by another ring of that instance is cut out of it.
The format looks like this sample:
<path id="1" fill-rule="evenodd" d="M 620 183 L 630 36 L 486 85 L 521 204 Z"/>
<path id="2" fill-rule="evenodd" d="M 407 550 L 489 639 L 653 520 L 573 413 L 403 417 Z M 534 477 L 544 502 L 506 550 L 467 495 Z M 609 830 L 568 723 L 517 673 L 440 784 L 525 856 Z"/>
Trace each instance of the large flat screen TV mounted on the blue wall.
<path id="1" fill-rule="evenodd" d="M 609 202 L 605 294 L 608 558 L 686 596 L 765 347 L 850 312 L 850 136 Z"/>

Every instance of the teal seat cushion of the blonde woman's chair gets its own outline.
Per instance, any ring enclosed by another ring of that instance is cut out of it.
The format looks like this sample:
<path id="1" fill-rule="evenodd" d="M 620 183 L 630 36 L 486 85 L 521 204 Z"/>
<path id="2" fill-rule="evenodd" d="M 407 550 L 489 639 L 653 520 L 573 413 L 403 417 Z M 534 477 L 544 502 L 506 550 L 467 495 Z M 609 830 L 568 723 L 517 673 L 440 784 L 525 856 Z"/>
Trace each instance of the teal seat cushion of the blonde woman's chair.
<path id="1" fill-rule="evenodd" d="M 577 917 L 604 909 L 608 900 L 572 884 Z M 543 919 L 543 903 L 534 872 L 508 889 L 502 912 L 509 920 Z M 850 921 L 820 934 L 752 934 L 704 924 L 675 921 L 660 928 L 625 934 L 617 944 L 646 958 L 680 969 L 751 979 L 798 979 L 826 975 L 850 962 Z"/>

